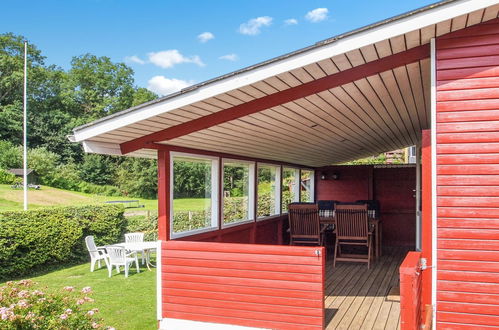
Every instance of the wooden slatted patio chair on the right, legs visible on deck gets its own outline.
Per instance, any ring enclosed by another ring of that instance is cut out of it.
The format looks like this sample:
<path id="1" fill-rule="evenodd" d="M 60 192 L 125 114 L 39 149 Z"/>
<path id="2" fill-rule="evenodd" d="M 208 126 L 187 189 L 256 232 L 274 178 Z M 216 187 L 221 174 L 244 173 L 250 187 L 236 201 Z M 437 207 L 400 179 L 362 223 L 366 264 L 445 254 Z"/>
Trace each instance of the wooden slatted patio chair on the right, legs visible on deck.
<path id="1" fill-rule="evenodd" d="M 373 255 L 372 229 L 369 229 L 367 205 L 337 204 L 335 208 L 336 243 L 334 246 L 333 266 L 336 261 L 366 262 L 367 268 L 371 267 Z M 342 254 L 342 245 L 366 246 L 367 255 Z"/>

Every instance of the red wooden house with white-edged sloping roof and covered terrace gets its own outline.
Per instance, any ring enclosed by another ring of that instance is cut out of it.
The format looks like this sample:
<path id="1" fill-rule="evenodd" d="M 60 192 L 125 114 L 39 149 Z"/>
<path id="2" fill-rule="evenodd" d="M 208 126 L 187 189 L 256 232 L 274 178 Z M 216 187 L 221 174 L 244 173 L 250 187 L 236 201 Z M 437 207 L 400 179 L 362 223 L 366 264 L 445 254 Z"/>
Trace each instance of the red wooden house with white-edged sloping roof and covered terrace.
<path id="1" fill-rule="evenodd" d="M 498 12 L 441 1 L 76 128 L 87 152 L 158 160 L 159 325 L 499 327 Z M 411 145 L 415 166 L 330 167 Z M 196 223 L 176 212 L 175 162 L 205 173 Z M 247 174 L 237 217 L 229 167 Z M 324 248 L 283 244 L 300 199 L 378 199 L 399 248 L 332 270 Z"/>

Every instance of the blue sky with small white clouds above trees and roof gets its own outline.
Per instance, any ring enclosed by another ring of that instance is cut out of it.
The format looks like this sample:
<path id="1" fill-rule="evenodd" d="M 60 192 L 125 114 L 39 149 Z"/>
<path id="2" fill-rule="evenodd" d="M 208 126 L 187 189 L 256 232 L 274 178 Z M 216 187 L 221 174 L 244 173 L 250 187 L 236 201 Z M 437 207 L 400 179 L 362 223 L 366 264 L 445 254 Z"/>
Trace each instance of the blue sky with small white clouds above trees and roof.
<path id="1" fill-rule="evenodd" d="M 85 53 L 125 62 L 138 86 L 167 94 L 433 2 L 3 1 L 0 33 L 24 35 L 65 69 Z"/>

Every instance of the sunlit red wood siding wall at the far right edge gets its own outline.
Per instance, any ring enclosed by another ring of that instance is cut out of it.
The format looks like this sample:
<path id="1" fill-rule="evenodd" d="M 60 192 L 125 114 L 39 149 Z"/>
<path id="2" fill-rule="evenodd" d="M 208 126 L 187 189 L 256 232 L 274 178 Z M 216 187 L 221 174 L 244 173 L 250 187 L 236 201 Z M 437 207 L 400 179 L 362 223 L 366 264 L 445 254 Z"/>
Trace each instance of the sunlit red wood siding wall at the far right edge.
<path id="1" fill-rule="evenodd" d="M 499 326 L 499 20 L 437 39 L 437 326 Z"/>

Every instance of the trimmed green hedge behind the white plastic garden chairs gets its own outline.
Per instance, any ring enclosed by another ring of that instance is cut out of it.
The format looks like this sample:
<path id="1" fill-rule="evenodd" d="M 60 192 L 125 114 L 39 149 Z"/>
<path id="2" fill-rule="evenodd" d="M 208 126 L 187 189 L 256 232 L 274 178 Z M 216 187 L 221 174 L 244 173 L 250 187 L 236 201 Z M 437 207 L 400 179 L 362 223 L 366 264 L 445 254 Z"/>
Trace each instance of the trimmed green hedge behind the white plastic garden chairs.
<path id="1" fill-rule="evenodd" d="M 85 236 L 93 235 L 97 245 L 123 240 L 123 213 L 122 205 L 0 213 L 0 279 L 88 259 Z"/>

